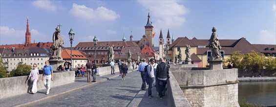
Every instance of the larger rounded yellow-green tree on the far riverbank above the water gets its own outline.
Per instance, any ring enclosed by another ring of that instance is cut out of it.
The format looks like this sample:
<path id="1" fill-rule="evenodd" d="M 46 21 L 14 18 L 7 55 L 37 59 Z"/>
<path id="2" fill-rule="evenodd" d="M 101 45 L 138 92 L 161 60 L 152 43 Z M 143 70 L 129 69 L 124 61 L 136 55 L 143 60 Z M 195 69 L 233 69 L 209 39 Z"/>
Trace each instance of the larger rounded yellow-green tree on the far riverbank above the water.
<path id="1" fill-rule="evenodd" d="M 264 54 L 258 54 L 254 50 L 251 53 L 245 54 L 241 61 L 245 65 L 245 69 L 249 71 L 259 72 L 264 65 Z"/>

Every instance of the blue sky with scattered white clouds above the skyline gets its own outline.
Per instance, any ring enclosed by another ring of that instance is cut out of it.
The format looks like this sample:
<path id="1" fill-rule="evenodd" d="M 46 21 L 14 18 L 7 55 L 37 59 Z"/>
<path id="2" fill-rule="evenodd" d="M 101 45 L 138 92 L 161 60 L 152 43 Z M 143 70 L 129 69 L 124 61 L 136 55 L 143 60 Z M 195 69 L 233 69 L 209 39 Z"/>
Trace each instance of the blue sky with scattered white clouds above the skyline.
<path id="1" fill-rule="evenodd" d="M 245 37 L 252 44 L 276 45 L 276 0 L 0 0 L 0 44 L 24 43 L 26 18 L 32 42 L 52 42 L 61 24 L 64 47 L 68 32 L 79 42 L 134 40 L 145 34 L 148 13 L 154 26 L 154 46 L 163 36 L 209 39 L 212 27 L 219 39 Z M 91 44 L 93 45 L 93 44 Z"/>

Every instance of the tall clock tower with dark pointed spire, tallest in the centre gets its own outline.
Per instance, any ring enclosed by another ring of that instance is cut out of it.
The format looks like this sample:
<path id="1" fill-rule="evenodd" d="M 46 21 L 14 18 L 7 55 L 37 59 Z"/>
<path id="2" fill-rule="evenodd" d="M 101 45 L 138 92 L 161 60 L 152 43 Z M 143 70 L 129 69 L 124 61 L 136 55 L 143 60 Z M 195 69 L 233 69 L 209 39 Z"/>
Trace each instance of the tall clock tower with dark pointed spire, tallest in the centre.
<path id="1" fill-rule="evenodd" d="M 146 35 L 146 38 L 149 40 L 149 43 L 151 46 L 153 44 L 152 34 L 153 34 L 153 26 L 151 25 L 150 16 L 148 15 L 148 22 L 147 22 L 147 25 L 145 26 L 145 35 Z"/>

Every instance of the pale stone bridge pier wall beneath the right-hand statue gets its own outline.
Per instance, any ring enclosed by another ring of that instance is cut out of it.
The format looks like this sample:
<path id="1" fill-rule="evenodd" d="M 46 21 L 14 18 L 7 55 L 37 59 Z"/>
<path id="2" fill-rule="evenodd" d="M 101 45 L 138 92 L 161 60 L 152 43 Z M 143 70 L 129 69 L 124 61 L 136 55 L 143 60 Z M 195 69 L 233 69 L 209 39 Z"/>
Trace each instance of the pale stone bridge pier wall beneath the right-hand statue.
<path id="1" fill-rule="evenodd" d="M 191 107 L 239 107 L 237 69 L 172 68 Z"/>

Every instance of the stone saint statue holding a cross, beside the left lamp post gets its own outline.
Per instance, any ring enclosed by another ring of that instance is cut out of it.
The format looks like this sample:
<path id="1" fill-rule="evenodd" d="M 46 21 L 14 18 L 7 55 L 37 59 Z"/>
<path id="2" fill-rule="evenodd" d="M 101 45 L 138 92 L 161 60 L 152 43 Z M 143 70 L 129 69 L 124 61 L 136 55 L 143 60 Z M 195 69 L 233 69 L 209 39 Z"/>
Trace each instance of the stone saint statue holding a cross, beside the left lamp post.
<path id="1" fill-rule="evenodd" d="M 51 59 L 58 59 L 58 60 L 62 60 L 62 47 L 63 47 L 63 44 L 64 44 L 64 41 L 63 41 L 63 37 L 61 36 L 60 34 L 60 29 L 59 27 L 57 26 L 56 27 L 56 31 L 54 32 L 53 34 L 53 47 L 52 47 L 52 50 L 53 50 L 53 55 L 51 56 Z"/>

